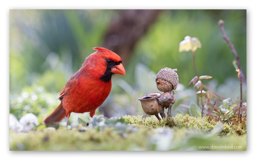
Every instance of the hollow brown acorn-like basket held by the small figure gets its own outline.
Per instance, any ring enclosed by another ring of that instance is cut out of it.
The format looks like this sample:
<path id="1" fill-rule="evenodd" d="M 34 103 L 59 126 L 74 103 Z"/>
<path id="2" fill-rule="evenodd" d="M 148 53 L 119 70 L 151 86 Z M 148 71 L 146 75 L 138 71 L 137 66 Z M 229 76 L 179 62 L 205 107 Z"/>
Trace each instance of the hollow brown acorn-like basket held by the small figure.
<path id="1" fill-rule="evenodd" d="M 141 102 L 143 111 L 148 115 L 156 115 L 162 110 L 162 106 L 158 104 L 157 98 L 161 93 L 152 92 L 141 96 L 138 100 Z"/>

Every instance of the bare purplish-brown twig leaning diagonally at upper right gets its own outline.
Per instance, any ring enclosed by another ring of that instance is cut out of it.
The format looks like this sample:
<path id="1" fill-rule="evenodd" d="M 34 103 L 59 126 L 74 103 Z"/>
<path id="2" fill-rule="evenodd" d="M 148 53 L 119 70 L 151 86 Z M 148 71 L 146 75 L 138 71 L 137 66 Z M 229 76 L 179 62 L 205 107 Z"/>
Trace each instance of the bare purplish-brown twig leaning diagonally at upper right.
<path id="1" fill-rule="evenodd" d="M 227 44 L 230 46 L 232 52 L 234 53 L 235 57 L 236 57 L 236 63 L 237 63 L 237 66 L 240 70 L 240 74 L 241 74 L 241 77 L 245 83 L 245 85 L 247 84 L 246 83 L 246 78 L 244 77 L 244 73 L 242 72 L 242 69 L 241 69 L 241 65 L 240 65 L 240 60 L 239 60 L 239 56 L 238 54 L 236 53 L 236 50 L 234 48 L 234 45 L 230 42 L 229 38 L 227 37 L 227 34 L 225 32 L 225 29 L 224 29 L 224 21 L 223 20 L 219 20 L 218 21 L 218 25 L 220 26 L 221 28 L 221 32 L 222 32 L 222 38 L 225 39 L 227 41 Z"/>

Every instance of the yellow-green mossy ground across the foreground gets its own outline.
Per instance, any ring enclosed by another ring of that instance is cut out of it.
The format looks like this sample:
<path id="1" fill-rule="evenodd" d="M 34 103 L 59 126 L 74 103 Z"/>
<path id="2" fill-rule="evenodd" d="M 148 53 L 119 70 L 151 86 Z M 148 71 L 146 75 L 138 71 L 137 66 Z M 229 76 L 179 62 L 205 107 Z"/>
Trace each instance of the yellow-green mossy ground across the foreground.
<path id="1" fill-rule="evenodd" d="M 172 121 L 140 115 L 122 118 L 136 131 L 121 134 L 113 127 L 83 129 L 81 124 L 71 130 L 60 126 L 27 133 L 10 131 L 10 150 L 246 150 L 246 121 L 235 124 L 181 114 Z"/>

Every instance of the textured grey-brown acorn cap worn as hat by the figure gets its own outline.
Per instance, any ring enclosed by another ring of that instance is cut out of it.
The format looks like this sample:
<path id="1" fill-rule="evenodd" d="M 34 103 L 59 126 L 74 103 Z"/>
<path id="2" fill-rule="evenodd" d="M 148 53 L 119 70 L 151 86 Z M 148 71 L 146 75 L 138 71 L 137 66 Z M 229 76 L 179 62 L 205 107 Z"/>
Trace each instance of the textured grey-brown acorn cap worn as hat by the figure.
<path id="1" fill-rule="evenodd" d="M 179 76 L 177 75 L 176 72 L 177 72 L 176 68 L 173 70 L 172 68 L 168 68 L 168 67 L 163 68 L 157 73 L 155 80 L 160 78 L 160 79 L 169 81 L 173 86 L 173 90 L 176 90 L 179 83 Z"/>

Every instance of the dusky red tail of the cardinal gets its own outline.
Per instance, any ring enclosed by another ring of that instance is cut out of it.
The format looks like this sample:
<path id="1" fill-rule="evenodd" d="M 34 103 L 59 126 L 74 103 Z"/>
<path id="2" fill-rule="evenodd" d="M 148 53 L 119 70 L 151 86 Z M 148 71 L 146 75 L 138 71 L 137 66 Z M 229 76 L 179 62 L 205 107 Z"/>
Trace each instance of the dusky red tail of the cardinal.
<path id="1" fill-rule="evenodd" d="M 50 114 L 48 117 L 43 119 L 43 124 L 55 124 L 61 121 L 66 115 L 66 110 L 61 104 Z"/>

